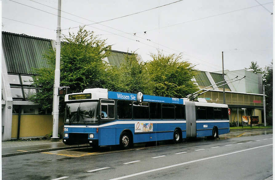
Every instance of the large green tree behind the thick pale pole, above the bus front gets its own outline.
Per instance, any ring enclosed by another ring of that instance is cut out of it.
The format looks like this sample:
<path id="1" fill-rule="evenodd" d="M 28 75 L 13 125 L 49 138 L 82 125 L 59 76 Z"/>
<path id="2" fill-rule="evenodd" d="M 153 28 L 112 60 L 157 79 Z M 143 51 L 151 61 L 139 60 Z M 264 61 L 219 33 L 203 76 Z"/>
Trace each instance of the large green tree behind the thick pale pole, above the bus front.
<path id="1" fill-rule="evenodd" d="M 71 92 L 81 92 L 85 88 L 106 88 L 109 84 L 108 66 L 102 59 L 109 55 L 108 49 L 106 40 L 101 40 L 84 27 L 80 27 L 76 34 L 69 33 L 61 45 L 60 86 L 69 86 Z M 50 49 L 44 57 L 50 67 L 33 69 L 34 74 L 37 74 L 33 77 L 34 86 L 40 90 L 32 100 L 40 104 L 42 110 L 51 110 L 55 50 Z"/>

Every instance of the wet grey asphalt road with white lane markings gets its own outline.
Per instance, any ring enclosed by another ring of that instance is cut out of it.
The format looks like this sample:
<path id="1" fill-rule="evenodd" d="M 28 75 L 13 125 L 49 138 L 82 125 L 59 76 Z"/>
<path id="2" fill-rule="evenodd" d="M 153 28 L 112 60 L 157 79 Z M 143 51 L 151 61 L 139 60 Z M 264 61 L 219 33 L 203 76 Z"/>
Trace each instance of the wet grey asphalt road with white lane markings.
<path id="1" fill-rule="evenodd" d="M 140 145 L 132 151 L 103 147 L 4 157 L 2 179 L 264 179 L 272 175 L 269 133 Z"/>

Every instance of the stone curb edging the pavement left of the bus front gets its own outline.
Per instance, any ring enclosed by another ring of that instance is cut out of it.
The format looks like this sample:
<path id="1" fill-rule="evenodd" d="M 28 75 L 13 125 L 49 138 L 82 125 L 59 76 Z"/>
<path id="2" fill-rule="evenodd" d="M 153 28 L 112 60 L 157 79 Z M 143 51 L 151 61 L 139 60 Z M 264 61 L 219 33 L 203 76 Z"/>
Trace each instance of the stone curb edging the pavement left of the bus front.
<path id="1" fill-rule="evenodd" d="M 70 147 L 55 147 L 55 148 L 48 148 L 48 149 L 38 149 L 33 151 L 26 151 L 26 152 L 15 152 L 9 154 L 3 154 L 3 157 L 10 157 L 10 156 L 17 156 L 17 155 L 26 155 L 26 154 L 34 154 L 34 153 L 41 153 L 41 152 L 49 152 L 49 151 L 58 151 L 63 149 L 75 149 L 75 148 L 83 148 L 87 147 L 87 145 L 80 145 L 80 146 L 70 146 Z"/>

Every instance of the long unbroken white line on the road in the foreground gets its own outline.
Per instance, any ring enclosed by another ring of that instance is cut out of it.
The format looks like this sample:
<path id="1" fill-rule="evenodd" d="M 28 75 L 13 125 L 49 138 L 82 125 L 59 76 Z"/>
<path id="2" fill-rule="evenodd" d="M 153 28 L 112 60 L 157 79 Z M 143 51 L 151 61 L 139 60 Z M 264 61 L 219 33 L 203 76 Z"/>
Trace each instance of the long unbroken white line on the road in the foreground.
<path id="1" fill-rule="evenodd" d="M 146 174 L 146 173 L 150 173 L 150 172 L 154 172 L 154 171 L 164 170 L 164 169 L 168 169 L 168 168 L 172 168 L 172 167 L 176 167 L 176 166 L 181 166 L 181 165 L 185 165 L 185 164 L 189 164 L 189 163 L 193 163 L 193 162 L 204 161 L 204 160 L 208 160 L 208 159 L 213 159 L 213 158 L 218 158 L 218 157 L 222 157 L 222 156 L 232 155 L 232 154 L 236 154 L 236 153 L 239 153 L 239 152 L 249 151 L 249 150 L 253 150 L 253 149 L 257 149 L 257 148 L 261 148 L 261 147 L 266 147 L 266 146 L 271 146 L 271 145 L 273 145 L 273 144 L 268 144 L 268 145 L 265 145 L 265 146 L 253 147 L 253 148 L 244 149 L 244 150 L 241 150 L 241 151 L 235 151 L 235 152 L 231 152 L 231 153 L 227 153 L 227 154 L 223 154 L 223 155 L 211 156 L 211 157 L 208 157 L 208 158 L 202 158 L 202 159 L 197 159 L 197 160 L 193 160 L 193 161 L 183 162 L 183 163 L 174 164 L 174 165 L 171 165 L 171 166 L 165 166 L 165 167 L 161 167 L 161 168 L 157 168 L 157 169 L 143 171 L 143 172 L 140 172 L 140 173 L 130 174 L 130 175 L 122 176 L 122 177 L 119 177 L 119 178 L 113 178 L 113 179 L 110 179 L 110 180 L 130 178 L 130 177 L 138 176 L 138 175 L 141 175 L 141 174 Z"/>

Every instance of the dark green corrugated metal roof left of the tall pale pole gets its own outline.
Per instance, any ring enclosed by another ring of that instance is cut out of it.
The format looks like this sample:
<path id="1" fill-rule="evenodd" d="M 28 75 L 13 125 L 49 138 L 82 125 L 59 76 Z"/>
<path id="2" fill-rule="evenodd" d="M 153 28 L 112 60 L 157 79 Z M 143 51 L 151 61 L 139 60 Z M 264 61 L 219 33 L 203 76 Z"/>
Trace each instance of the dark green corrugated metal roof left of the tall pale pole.
<path id="1" fill-rule="evenodd" d="M 49 39 L 2 32 L 2 48 L 8 73 L 32 74 L 32 67 L 49 67 L 42 57 L 52 48 Z"/>

